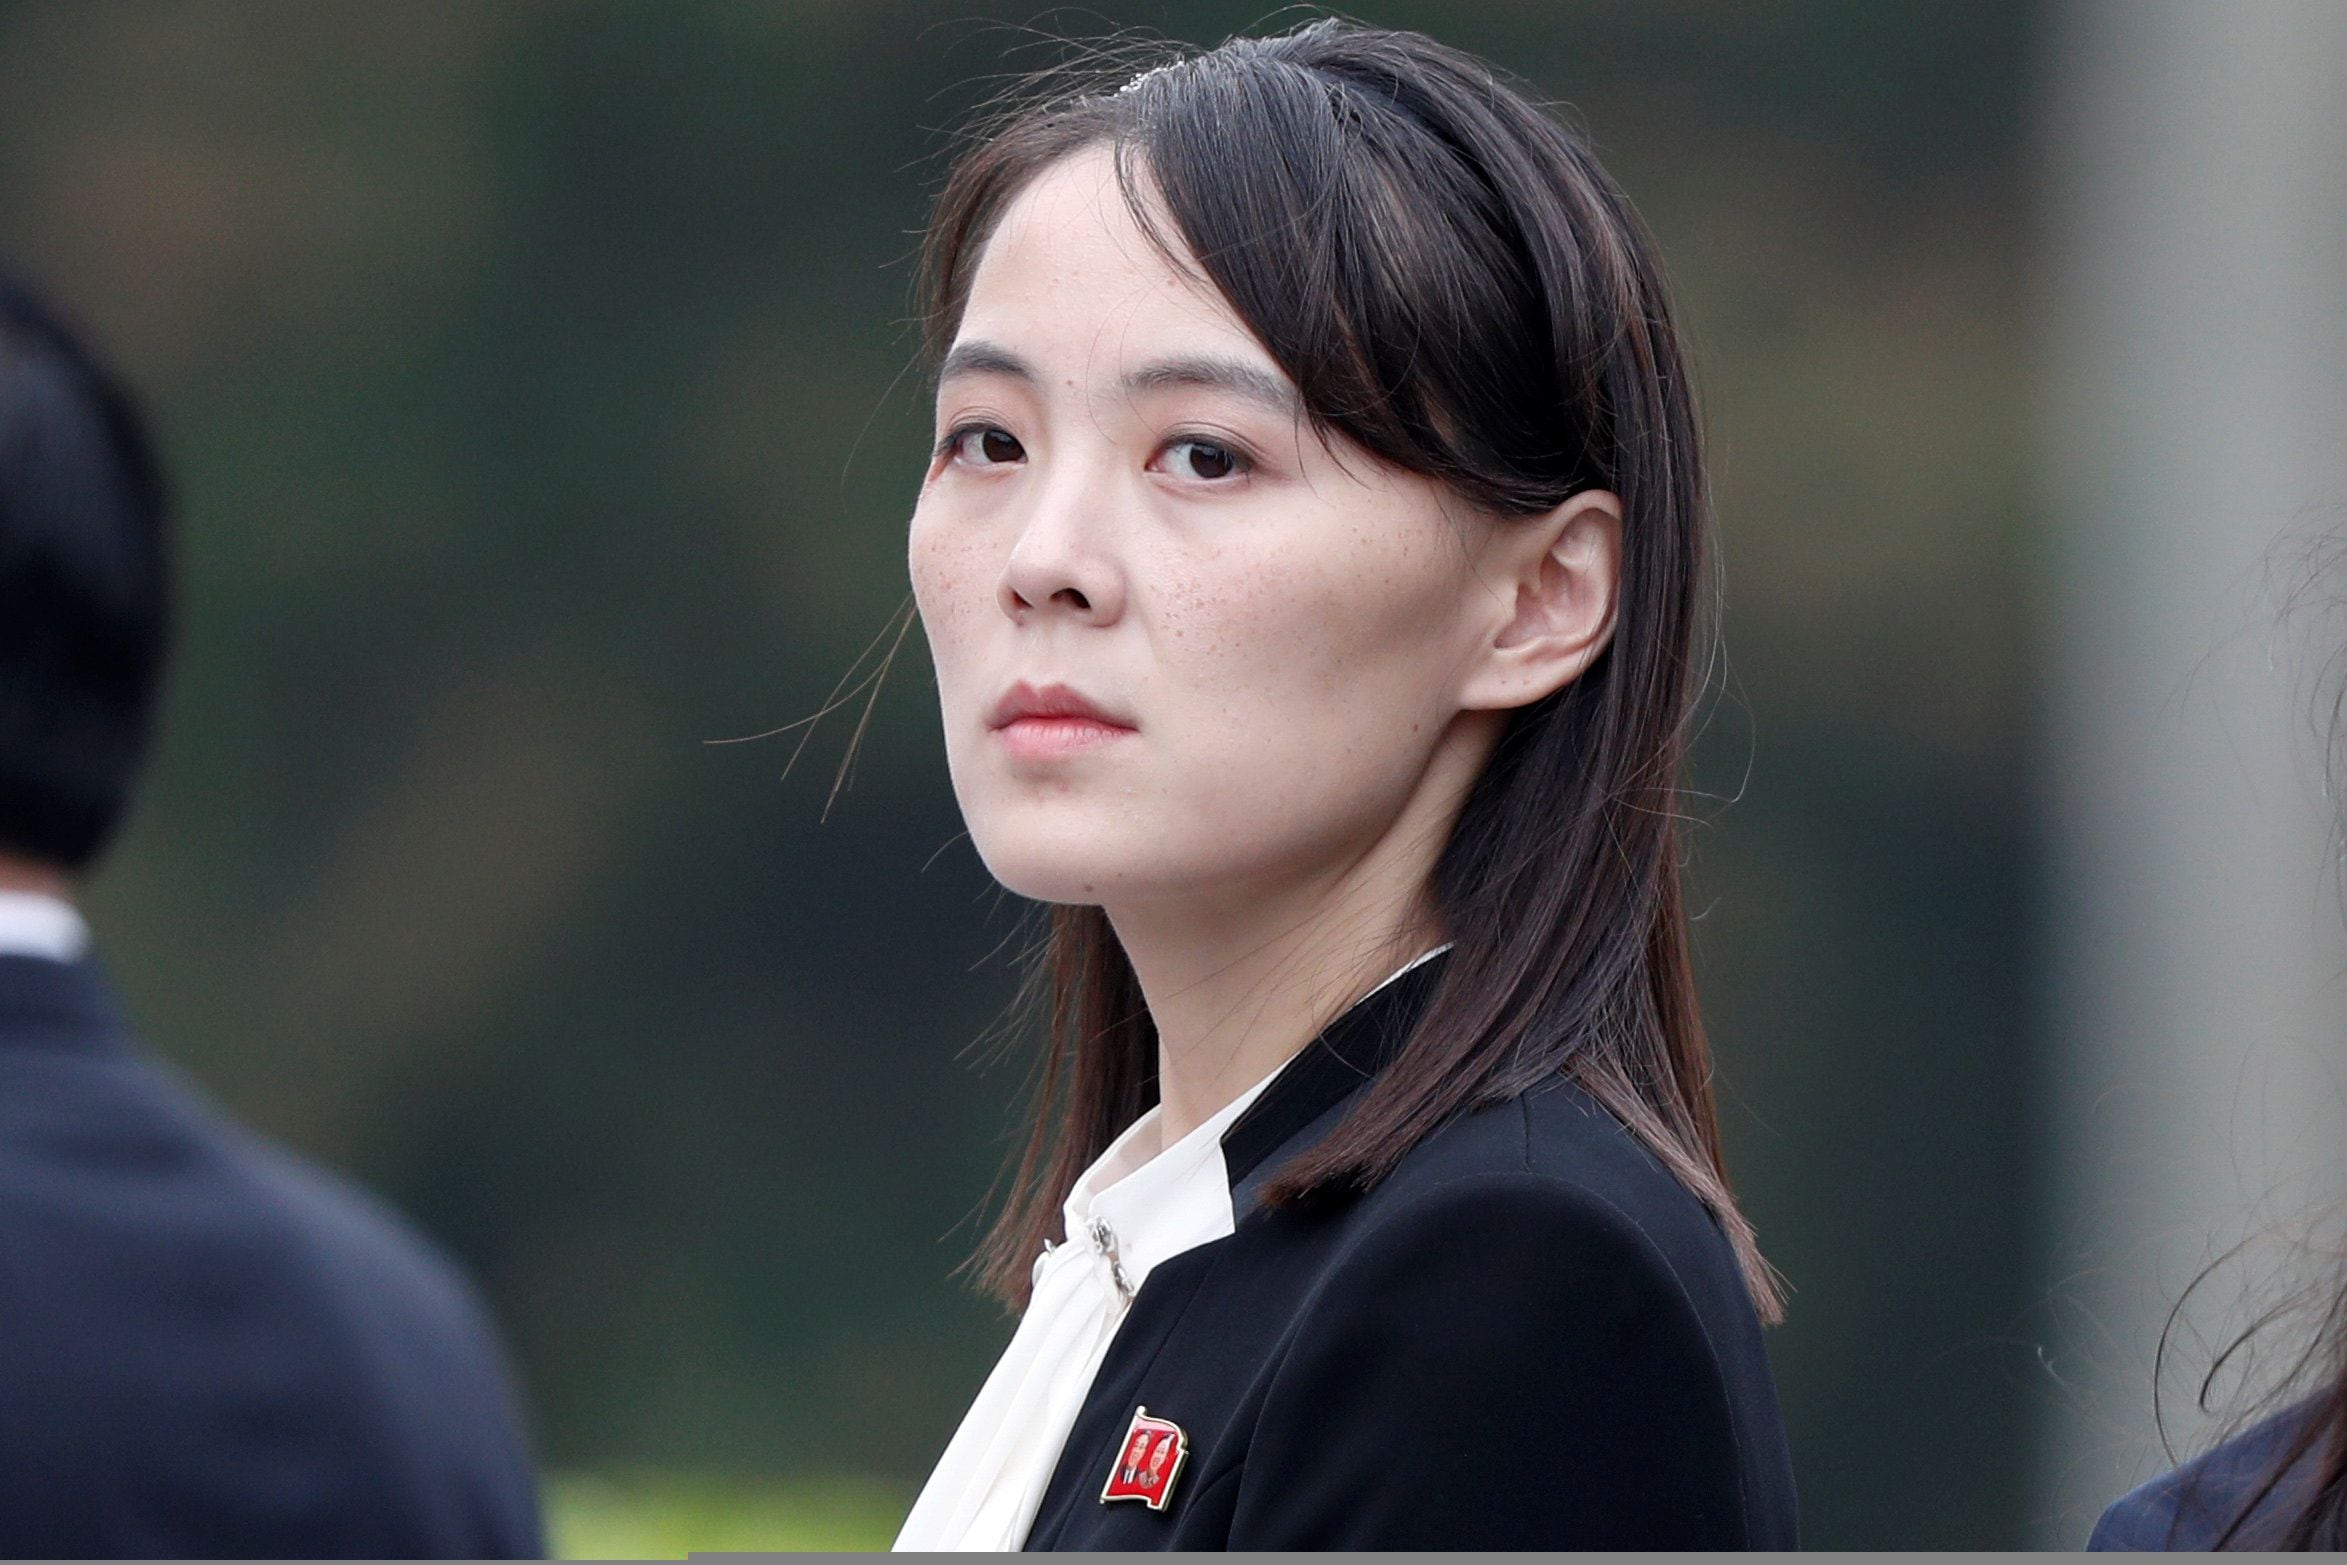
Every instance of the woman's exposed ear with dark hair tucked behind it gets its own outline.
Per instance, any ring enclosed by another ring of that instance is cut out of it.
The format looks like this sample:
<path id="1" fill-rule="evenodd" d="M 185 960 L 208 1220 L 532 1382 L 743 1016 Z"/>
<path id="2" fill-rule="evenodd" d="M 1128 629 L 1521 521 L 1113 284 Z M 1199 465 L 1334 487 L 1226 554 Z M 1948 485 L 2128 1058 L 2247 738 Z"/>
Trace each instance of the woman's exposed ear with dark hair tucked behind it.
<path id="1" fill-rule="evenodd" d="M 1469 711 L 1530 706 L 1577 680 L 1612 641 L 1622 500 L 1591 488 L 1547 516 L 1500 521 L 1490 549 L 1497 622 L 1460 692 Z"/>

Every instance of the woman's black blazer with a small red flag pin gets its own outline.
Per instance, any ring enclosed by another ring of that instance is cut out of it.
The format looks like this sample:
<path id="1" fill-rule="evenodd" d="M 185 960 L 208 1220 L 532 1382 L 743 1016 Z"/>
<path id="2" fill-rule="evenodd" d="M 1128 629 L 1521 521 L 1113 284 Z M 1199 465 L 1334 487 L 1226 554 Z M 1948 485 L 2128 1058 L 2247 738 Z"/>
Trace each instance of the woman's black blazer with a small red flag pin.
<path id="1" fill-rule="evenodd" d="M 1354 1007 L 1223 1138 L 1237 1232 L 1148 1274 L 1028 1549 L 1793 1546 L 1727 1239 L 1577 1086 L 1457 1119 L 1366 1197 L 1256 1206 L 1436 967 Z M 1162 1509 L 1103 1499 L 1141 1408 L 1183 1434 Z"/>

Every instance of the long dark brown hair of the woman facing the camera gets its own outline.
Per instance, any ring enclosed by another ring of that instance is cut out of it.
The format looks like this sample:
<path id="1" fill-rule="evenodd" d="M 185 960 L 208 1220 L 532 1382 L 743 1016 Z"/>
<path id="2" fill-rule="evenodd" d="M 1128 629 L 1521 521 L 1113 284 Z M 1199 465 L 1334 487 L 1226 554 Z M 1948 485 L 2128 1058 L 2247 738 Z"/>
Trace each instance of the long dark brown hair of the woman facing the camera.
<path id="1" fill-rule="evenodd" d="M 1134 216 L 1220 291 L 1324 439 L 1502 519 L 1584 488 L 1624 507 L 1610 648 L 1514 713 L 1436 866 L 1455 948 L 1425 1018 L 1265 1201 L 1366 1190 L 1455 1115 L 1570 1072 L 1711 1208 L 1774 1319 L 1720 1166 L 1680 901 L 1709 502 L 1652 244 L 1582 136 L 1418 33 L 1312 21 L 1117 70 L 1028 84 L 955 164 L 922 267 L 932 354 L 1005 206 L 1108 145 Z M 1157 1096 L 1155 1025 L 1101 908 L 1051 910 L 1033 983 L 1033 1129 L 979 1255 L 1009 1305 L 1075 1176 Z"/>

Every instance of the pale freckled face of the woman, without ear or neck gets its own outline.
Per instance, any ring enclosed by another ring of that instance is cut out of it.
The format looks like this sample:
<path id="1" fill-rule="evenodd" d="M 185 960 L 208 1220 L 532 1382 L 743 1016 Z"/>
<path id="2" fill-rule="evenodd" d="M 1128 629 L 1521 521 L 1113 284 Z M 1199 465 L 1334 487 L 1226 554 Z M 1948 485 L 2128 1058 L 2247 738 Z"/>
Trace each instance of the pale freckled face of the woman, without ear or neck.
<path id="1" fill-rule="evenodd" d="M 1324 446 L 1105 148 L 1005 211 L 936 441 L 913 594 L 1002 885 L 1115 910 L 1342 873 L 1434 786 L 1504 619 L 1493 523 Z"/>

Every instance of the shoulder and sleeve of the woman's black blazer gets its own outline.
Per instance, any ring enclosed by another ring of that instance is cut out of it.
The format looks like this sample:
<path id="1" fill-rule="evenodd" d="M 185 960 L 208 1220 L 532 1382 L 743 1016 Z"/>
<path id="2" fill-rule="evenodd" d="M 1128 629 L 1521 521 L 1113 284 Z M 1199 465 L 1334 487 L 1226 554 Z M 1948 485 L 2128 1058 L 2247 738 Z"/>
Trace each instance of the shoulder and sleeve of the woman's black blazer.
<path id="1" fill-rule="evenodd" d="M 1758 1323 L 1680 1253 L 1702 1208 L 1577 1107 L 1596 1145 L 1544 1145 L 1554 1112 L 1469 1115 L 1342 1215 L 1265 1382 L 1263 1478 L 1227 1478 L 1235 1549 L 1793 1544 Z"/>

